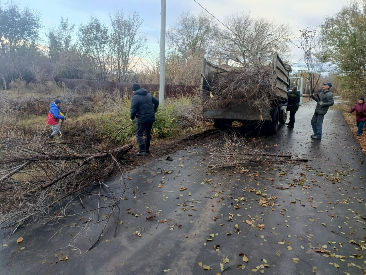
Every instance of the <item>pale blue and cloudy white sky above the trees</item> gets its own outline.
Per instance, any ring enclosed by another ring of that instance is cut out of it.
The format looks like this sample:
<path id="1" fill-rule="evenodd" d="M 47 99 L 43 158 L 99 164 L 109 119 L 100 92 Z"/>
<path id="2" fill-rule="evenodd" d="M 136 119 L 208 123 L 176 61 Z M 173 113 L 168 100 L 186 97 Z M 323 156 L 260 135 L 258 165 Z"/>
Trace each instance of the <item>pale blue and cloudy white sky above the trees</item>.
<path id="1" fill-rule="evenodd" d="M 15 0 L 20 5 L 28 5 L 40 12 L 43 25 L 58 25 L 61 16 L 69 22 L 89 21 L 90 15 L 108 23 L 108 13 L 116 8 L 128 13 L 138 11 L 145 23 L 142 31 L 149 36 L 151 47 L 160 38 L 160 0 Z M 197 0 L 220 21 L 237 12 L 250 12 L 253 16 L 263 16 L 277 23 L 288 23 L 294 33 L 309 24 L 321 23 L 326 16 L 338 11 L 341 0 Z M 190 10 L 198 13 L 202 8 L 193 0 L 167 0 L 167 28 L 172 26 L 180 12 Z M 43 30 L 45 33 L 45 30 Z M 294 51 L 292 62 L 297 63 L 301 55 Z"/>

